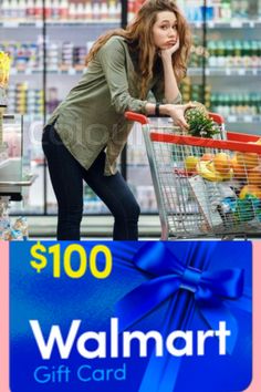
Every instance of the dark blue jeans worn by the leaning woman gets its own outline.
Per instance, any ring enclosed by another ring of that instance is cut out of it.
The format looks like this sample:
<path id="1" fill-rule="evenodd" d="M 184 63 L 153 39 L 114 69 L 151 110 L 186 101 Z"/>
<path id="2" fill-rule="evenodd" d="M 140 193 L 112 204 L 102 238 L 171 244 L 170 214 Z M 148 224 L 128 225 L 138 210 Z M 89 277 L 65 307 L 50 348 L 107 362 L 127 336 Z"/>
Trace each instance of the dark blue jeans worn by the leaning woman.
<path id="1" fill-rule="evenodd" d="M 83 215 L 83 179 L 114 216 L 113 239 L 138 238 L 139 206 L 119 173 L 104 176 L 105 153 L 86 171 L 63 145 L 53 125 L 42 136 L 52 186 L 58 199 L 58 239 L 79 240 Z"/>

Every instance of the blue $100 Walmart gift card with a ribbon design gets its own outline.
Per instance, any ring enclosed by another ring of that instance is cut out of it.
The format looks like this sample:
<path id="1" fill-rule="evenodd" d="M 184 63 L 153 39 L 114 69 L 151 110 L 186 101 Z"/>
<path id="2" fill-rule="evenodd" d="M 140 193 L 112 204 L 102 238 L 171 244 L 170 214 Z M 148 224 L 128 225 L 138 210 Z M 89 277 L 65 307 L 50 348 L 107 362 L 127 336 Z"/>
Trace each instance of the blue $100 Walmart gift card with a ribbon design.
<path id="1" fill-rule="evenodd" d="M 249 241 L 12 243 L 10 389 L 242 391 L 251 278 Z"/>

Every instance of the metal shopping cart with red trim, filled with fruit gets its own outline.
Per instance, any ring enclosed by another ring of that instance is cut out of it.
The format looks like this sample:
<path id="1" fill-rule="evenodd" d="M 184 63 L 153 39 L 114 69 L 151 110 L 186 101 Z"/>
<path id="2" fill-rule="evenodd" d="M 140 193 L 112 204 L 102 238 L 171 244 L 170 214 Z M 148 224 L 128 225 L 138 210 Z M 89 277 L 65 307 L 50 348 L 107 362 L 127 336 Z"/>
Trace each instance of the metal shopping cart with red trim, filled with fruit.
<path id="1" fill-rule="evenodd" d="M 142 124 L 163 240 L 261 234 L 259 136 L 226 133 L 216 113 L 216 140 L 180 134 L 170 118 L 125 116 Z"/>

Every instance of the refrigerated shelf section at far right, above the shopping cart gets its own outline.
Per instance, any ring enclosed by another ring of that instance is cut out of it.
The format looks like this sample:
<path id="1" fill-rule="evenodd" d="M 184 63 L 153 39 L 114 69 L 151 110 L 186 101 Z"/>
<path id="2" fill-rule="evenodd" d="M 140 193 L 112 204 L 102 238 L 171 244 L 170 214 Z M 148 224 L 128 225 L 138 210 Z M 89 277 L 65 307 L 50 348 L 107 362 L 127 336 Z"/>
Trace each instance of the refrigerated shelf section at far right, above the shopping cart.
<path id="1" fill-rule="evenodd" d="M 226 6 L 226 13 L 207 22 L 210 109 L 225 116 L 229 130 L 261 134 L 261 1 Z"/>

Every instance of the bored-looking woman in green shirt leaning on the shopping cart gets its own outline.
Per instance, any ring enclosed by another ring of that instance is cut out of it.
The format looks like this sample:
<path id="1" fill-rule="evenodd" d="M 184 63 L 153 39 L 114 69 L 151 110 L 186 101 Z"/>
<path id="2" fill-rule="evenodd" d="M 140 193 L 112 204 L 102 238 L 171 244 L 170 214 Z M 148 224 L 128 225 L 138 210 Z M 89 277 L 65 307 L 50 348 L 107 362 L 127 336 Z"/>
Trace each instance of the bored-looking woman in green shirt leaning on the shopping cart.
<path id="1" fill-rule="evenodd" d="M 126 30 L 107 32 L 94 43 L 86 72 L 42 137 L 59 206 L 58 239 L 80 239 L 83 179 L 112 212 L 113 238 L 138 238 L 139 206 L 115 168 L 133 125 L 124 112 L 167 114 L 187 127 L 189 105 L 179 104 L 178 84 L 189 49 L 189 28 L 171 0 L 146 1 Z M 148 101 L 149 91 L 156 104 Z"/>

